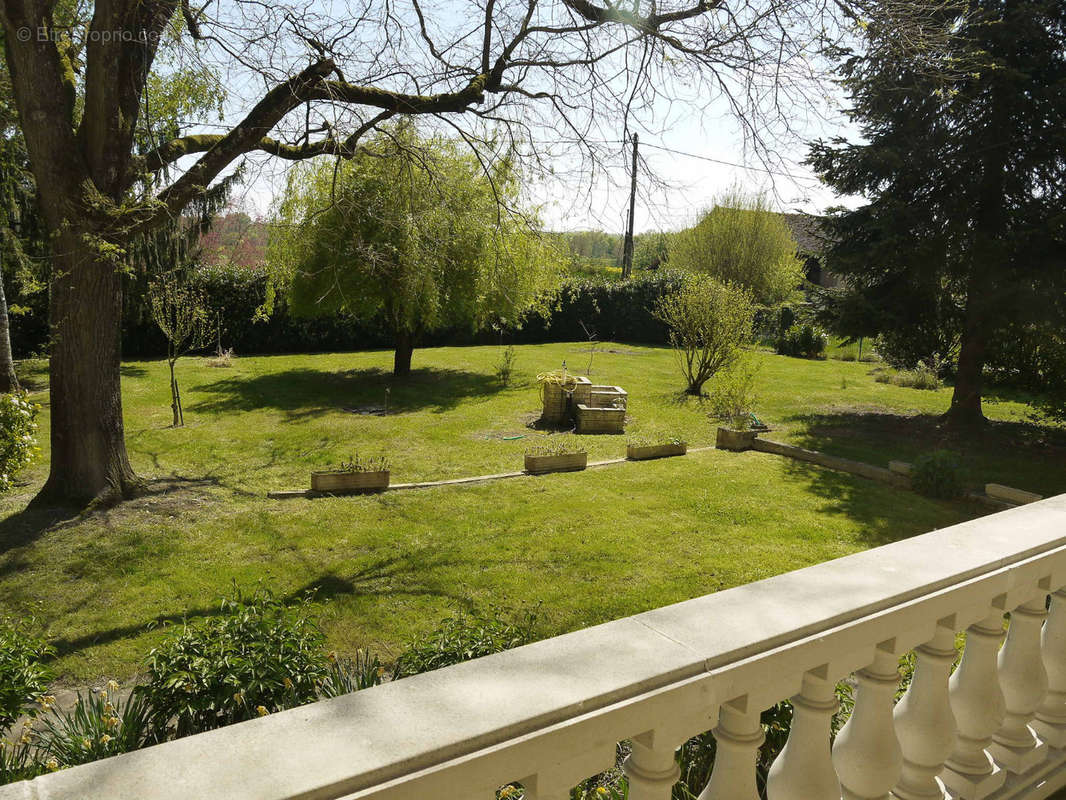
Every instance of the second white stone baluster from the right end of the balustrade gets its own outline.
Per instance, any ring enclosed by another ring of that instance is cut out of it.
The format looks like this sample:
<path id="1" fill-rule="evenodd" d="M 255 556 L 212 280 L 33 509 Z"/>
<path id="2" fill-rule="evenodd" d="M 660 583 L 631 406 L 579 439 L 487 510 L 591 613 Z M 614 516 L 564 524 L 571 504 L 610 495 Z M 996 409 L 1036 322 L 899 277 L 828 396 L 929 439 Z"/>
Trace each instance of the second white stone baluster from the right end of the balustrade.
<path id="1" fill-rule="evenodd" d="M 1048 690 L 1040 653 L 1040 627 L 1048 615 L 1046 602 L 1047 595 L 1041 592 L 1012 612 L 999 654 L 1006 714 L 988 750 L 1000 766 L 1016 773 L 1028 772 L 1047 757 L 1048 746 L 1029 726 Z"/>

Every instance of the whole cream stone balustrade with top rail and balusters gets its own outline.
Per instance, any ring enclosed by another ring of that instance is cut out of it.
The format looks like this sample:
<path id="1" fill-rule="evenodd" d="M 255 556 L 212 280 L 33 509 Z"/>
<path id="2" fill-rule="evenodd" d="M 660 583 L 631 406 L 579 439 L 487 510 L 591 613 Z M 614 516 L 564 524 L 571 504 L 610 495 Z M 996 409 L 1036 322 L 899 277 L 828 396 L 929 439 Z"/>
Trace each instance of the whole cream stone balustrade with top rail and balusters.
<path id="1" fill-rule="evenodd" d="M 830 742 L 849 676 L 854 709 Z M 786 698 L 771 800 L 1066 786 L 1066 495 L 12 784 L 0 800 L 491 800 L 511 782 L 565 800 L 615 764 L 619 741 L 629 799 L 669 800 L 676 749 L 709 730 L 700 800 L 756 800 L 759 714 Z"/>

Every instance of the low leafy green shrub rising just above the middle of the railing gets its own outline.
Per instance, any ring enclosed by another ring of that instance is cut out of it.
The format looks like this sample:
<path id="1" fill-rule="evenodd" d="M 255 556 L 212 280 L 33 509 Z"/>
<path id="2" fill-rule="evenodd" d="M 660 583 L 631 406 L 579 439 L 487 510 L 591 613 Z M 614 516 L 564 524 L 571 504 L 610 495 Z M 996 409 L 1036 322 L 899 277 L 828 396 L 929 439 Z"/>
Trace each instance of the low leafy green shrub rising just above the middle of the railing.
<path id="1" fill-rule="evenodd" d="M 439 670 L 529 644 L 536 639 L 536 609 L 518 614 L 492 609 L 490 615 L 461 611 L 443 620 L 436 630 L 411 642 L 397 659 L 393 677 Z"/>

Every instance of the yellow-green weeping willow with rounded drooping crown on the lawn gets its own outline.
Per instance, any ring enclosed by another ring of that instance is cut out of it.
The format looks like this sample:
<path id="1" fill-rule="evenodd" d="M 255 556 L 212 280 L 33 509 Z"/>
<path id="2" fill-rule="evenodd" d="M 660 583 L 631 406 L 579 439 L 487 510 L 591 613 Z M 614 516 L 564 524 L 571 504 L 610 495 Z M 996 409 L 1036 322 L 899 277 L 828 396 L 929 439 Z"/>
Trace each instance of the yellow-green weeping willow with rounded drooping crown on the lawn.
<path id="1" fill-rule="evenodd" d="M 423 334 L 516 319 L 556 283 L 562 258 L 518 211 L 518 189 L 512 159 L 484 164 L 403 124 L 290 175 L 271 262 L 295 314 L 384 320 L 406 375 Z"/>

